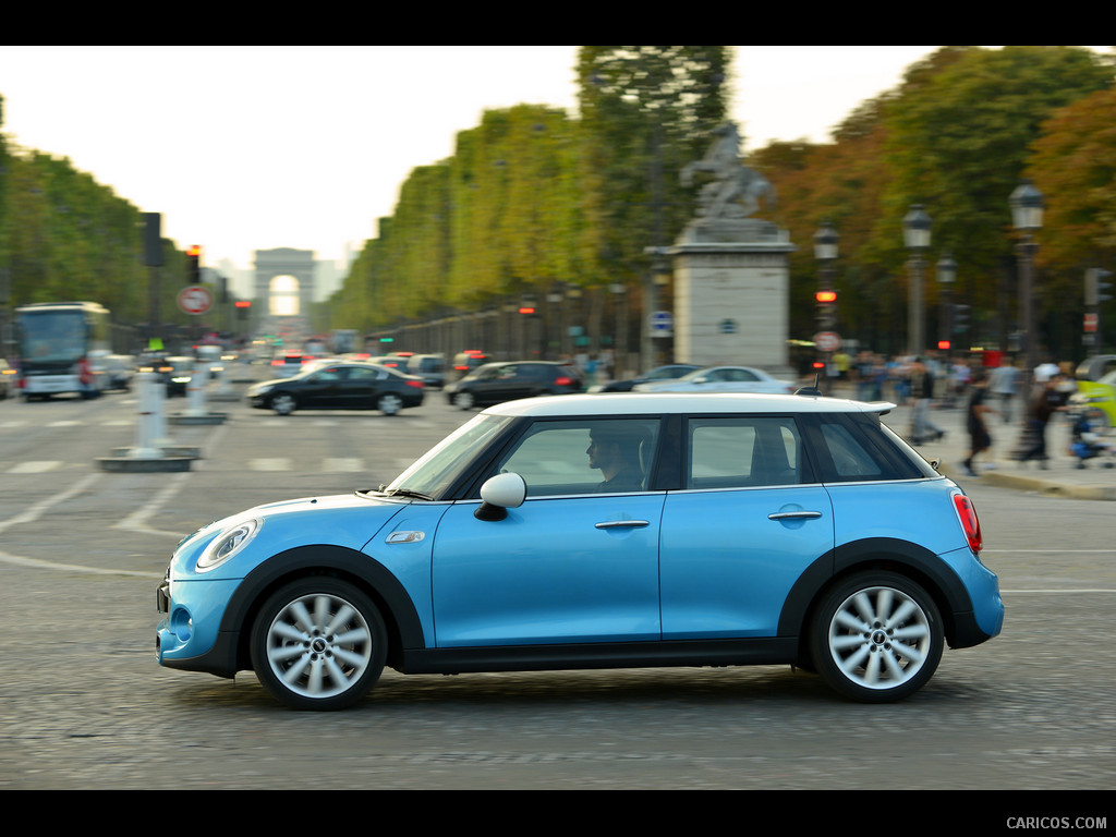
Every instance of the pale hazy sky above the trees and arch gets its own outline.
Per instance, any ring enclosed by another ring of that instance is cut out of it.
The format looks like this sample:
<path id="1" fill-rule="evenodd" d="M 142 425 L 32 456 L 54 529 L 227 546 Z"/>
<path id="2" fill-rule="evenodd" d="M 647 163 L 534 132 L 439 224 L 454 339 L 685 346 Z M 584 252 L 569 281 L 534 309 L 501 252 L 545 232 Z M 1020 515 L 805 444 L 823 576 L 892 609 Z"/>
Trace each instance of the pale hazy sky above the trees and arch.
<path id="1" fill-rule="evenodd" d="M 112 186 L 203 263 L 339 261 L 485 109 L 576 110 L 578 47 L 3 47 L 0 131 Z M 829 140 L 937 47 L 733 47 L 744 151 Z M 1103 50 L 1107 48 L 1095 47 Z"/>

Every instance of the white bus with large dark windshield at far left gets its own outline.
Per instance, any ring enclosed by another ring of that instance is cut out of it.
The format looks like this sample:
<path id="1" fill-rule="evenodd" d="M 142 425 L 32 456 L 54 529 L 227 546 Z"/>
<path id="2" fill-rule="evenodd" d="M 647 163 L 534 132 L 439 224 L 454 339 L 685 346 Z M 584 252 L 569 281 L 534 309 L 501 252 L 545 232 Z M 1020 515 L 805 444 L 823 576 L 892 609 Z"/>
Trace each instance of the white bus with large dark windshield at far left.
<path id="1" fill-rule="evenodd" d="M 77 393 L 85 398 L 105 388 L 96 358 L 110 348 L 108 309 L 97 302 L 35 302 L 16 309 L 19 385 L 23 397 Z"/>

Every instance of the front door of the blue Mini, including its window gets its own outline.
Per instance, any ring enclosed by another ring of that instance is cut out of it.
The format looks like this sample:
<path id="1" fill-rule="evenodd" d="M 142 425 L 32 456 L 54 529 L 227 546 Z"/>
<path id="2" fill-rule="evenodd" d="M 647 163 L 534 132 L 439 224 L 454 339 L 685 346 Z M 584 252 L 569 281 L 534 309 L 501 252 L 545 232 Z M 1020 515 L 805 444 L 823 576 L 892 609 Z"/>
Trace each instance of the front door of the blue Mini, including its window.
<path id="1" fill-rule="evenodd" d="M 527 500 L 503 520 L 477 501 L 451 508 L 433 549 L 439 647 L 658 639 L 658 533 L 665 493 L 602 490 L 590 431 L 631 431 L 653 468 L 657 420 L 531 425 L 496 472 L 523 477 Z"/>

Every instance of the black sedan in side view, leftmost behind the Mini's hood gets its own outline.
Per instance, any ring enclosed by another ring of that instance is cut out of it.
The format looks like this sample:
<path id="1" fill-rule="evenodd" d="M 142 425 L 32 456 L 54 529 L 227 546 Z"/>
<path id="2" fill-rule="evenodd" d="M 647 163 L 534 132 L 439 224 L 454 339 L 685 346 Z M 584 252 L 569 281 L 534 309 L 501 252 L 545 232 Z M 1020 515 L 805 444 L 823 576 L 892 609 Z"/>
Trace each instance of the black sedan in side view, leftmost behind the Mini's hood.
<path id="1" fill-rule="evenodd" d="M 395 415 L 423 401 L 422 378 L 369 363 L 318 366 L 294 377 L 267 381 L 248 388 L 253 407 L 289 415 L 296 410 L 378 410 Z"/>

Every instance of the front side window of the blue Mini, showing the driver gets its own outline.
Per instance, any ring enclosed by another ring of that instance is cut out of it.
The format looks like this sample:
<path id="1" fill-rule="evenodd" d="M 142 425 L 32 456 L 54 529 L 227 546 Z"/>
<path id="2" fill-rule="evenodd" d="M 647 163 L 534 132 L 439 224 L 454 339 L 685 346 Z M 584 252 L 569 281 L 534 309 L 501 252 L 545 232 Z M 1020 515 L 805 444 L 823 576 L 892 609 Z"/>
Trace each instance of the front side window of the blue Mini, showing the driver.
<path id="1" fill-rule="evenodd" d="M 527 482 L 528 497 L 645 491 L 657 420 L 537 422 L 497 470 Z"/>

